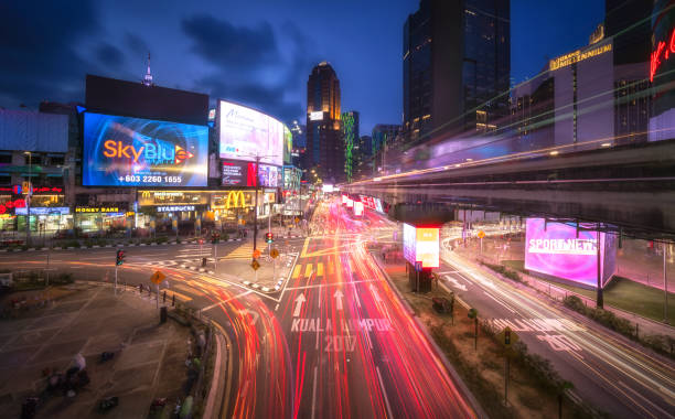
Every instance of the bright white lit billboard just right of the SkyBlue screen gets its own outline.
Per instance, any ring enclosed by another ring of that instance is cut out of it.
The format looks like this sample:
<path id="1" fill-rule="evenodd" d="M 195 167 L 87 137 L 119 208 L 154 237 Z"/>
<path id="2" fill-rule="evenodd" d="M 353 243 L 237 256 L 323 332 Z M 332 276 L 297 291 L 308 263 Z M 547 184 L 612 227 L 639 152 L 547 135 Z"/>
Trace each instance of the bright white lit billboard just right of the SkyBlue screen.
<path id="1" fill-rule="evenodd" d="M 218 103 L 219 154 L 222 159 L 282 165 L 283 123 L 275 118 L 226 100 Z"/>

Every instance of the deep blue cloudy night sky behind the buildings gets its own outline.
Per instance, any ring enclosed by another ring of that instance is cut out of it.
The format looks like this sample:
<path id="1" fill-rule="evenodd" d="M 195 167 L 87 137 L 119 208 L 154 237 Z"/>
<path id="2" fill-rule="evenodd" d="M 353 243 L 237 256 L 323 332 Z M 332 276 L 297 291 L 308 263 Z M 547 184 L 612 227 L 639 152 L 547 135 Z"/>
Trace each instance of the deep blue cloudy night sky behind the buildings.
<path id="1" fill-rule="evenodd" d="M 418 0 L 2 1 L 0 106 L 84 101 L 87 73 L 231 98 L 304 120 L 307 78 L 333 65 L 361 133 L 400 123 L 403 25 Z M 588 43 L 604 1 L 512 0 L 512 80 Z M 302 122 L 301 122 L 302 123 Z"/>

